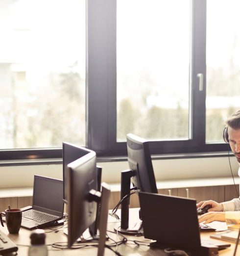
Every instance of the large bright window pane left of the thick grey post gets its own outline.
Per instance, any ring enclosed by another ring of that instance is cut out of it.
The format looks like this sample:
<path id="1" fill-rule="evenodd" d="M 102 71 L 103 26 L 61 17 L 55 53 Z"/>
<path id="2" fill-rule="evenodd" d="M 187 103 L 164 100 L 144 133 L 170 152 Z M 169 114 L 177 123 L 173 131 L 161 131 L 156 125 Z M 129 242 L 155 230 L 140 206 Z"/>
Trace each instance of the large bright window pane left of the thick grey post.
<path id="1" fill-rule="evenodd" d="M 0 10 L 0 147 L 85 145 L 85 0 Z"/>

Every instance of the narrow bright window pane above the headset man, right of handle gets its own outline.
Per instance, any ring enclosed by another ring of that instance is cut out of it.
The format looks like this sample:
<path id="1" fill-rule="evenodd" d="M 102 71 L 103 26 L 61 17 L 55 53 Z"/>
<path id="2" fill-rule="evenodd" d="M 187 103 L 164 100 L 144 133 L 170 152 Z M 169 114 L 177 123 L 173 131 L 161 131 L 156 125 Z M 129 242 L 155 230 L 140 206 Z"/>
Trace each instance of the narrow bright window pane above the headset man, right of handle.
<path id="1" fill-rule="evenodd" d="M 224 121 L 240 108 L 239 9 L 239 0 L 207 0 L 207 142 L 223 142 Z"/>

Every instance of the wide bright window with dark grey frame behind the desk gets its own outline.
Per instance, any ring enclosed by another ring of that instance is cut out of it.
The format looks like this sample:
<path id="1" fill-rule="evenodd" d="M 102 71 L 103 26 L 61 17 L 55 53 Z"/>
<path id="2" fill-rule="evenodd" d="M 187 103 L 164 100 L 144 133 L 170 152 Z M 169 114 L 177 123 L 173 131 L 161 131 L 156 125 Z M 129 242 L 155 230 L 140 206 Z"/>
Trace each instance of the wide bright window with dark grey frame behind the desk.
<path id="1" fill-rule="evenodd" d="M 152 154 L 227 149 L 224 120 L 240 106 L 238 0 L 0 4 L 3 148 L 53 157 L 65 140 L 124 155 L 131 132 Z"/>

